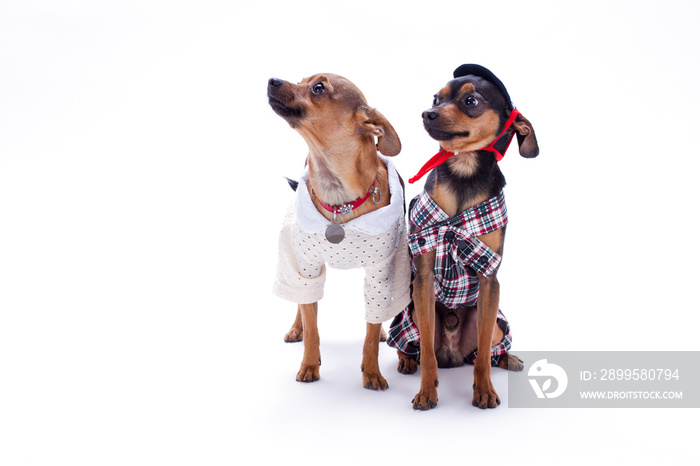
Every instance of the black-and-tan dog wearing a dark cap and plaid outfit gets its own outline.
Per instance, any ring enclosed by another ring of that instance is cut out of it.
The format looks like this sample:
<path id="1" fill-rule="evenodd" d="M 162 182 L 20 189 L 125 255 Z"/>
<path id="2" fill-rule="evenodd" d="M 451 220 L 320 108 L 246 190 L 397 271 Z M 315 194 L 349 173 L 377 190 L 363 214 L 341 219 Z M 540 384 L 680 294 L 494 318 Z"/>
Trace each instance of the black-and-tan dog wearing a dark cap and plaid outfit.
<path id="1" fill-rule="evenodd" d="M 419 358 L 421 388 L 413 407 L 421 410 L 437 405 L 438 367 L 473 363 L 472 404 L 480 408 L 500 404 L 492 365 L 523 368 L 508 353 L 510 331 L 499 310 L 496 274 L 507 212 L 497 162 L 513 135 L 523 157 L 537 156 L 539 148 L 532 125 L 493 73 L 462 65 L 454 78 L 423 112 L 425 129 L 442 150 L 409 180 L 429 173 L 409 208 L 412 309 L 397 316 L 389 331 L 400 372 L 415 372 Z"/>

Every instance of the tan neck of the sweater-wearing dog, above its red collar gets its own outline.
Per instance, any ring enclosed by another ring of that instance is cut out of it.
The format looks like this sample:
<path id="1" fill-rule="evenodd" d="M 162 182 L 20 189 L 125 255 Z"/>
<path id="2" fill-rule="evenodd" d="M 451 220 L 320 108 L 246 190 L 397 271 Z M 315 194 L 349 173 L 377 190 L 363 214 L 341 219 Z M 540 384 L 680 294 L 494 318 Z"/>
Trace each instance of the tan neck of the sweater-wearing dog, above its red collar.
<path id="1" fill-rule="evenodd" d="M 309 188 L 324 203 L 340 206 L 364 197 L 375 182 L 381 168 L 374 147 L 357 148 L 339 153 L 358 154 L 355 157 L 338 155 L 329 149 L 311 148 L 309 151 Z"/>

